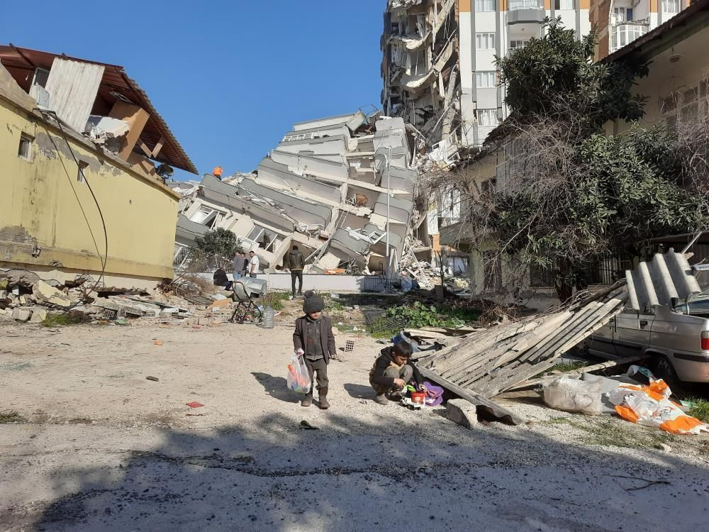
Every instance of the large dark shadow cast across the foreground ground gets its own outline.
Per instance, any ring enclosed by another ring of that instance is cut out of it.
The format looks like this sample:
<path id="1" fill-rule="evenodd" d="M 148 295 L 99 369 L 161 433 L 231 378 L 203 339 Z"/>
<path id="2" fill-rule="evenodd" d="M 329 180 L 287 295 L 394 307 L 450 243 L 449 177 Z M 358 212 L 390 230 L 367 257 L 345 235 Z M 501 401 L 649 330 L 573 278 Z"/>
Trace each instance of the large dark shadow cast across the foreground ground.
<path id="1" fill-rule="evenodd" d="M 314 422 L 319 431 L 301 430 L 298 419 L 164 430 L 154 448 L 67 455 L 51 480 L 55 492 L 72 492 L 40 509 L 33 526 L 359 531 L 406 520 L 431 530 L 474 522 L 491 531 L 591 532 L 671 519 L 676 530 L 703 528 L 708 471 L 677 455 L 559 443 L 525 427 L 467 431 L 437 416 L 402 421 L 384 409 L 367 422 L 329 411 Z M 642 488 L 642 479 L 669 484 Z"/>

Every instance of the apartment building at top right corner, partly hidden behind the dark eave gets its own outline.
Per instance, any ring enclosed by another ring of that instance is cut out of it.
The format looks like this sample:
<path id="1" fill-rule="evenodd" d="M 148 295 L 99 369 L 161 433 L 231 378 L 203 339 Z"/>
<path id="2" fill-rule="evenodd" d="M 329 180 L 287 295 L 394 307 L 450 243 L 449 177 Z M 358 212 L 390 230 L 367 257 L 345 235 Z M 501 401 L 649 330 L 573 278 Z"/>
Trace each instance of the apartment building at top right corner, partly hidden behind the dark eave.
<path id="1" fill-rule="evenodd" d="M 591 0 L 591 24 L 598 28 L 596 60 L 669 21 L 689 4 L 690 0 Z"/>

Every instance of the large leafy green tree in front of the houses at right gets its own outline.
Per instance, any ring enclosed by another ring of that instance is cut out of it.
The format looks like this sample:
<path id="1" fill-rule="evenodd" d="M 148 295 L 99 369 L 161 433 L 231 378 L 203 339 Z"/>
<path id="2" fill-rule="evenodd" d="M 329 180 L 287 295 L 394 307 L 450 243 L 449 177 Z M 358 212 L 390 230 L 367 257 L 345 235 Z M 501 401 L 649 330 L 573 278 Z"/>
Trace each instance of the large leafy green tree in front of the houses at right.
<path id="1" fill-rule="evenodd" d="M 491 135 L 505 145 L 503 187 L 462 188 L 473 244 L 496 243 L 495 260 L 512 255 L 508 263 L 520 272 L 553 270 L 565 301 L 601 257 L 638 255 L 647 239 L 705 228 L 708 216 L 701 194 L 684 182 L 675 132 L 634 122 L 644 100 L 632 94 L 633 82 L 647 65 L 593 62 L 595 33 L 576 40 L 559 21 L 547 28 L 498 58 L 511 111 Z M 605 135 L 614 120 L 632 126 Z"/>

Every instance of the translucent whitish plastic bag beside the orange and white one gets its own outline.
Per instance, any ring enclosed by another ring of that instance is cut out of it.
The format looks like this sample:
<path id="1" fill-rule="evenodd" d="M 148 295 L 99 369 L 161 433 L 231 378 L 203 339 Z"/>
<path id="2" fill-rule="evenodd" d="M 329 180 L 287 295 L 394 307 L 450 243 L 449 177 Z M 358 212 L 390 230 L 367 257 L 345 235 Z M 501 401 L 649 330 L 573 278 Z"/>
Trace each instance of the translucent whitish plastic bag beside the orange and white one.
<path id="1" fill-rule="evenodd" d="M 600 382 L 586 382 L 569 375 L 553 377 L 543 384 L 542 399 L 552 409 L 581 412 L 588 416 L 603 413 Z"/>

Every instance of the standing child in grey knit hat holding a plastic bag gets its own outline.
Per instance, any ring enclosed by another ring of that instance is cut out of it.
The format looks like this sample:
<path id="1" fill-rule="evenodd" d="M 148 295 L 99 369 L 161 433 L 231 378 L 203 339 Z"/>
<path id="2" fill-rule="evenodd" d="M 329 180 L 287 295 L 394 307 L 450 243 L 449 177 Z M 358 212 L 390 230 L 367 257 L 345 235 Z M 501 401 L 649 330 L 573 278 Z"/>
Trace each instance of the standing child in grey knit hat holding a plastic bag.
<path id="1" fill-rule="evenodd" d="M 321 409 L 330 407 L 328 403 L 328 364 L 330 357 L 335 355 L 335 336 L 333 321 L 330 316 L 323 315 L 325 301 L 312 290 L 305 293 L 303 312 L 305 316 L 296 319 L 296 330 L 293 333 L 293 347 L 301 350 L 308 367 L 308 373 L 313 382 L 316 375 L 318 383 L 318 406 Z M 313 386 L 301 406 L 313 404 Z"/>

